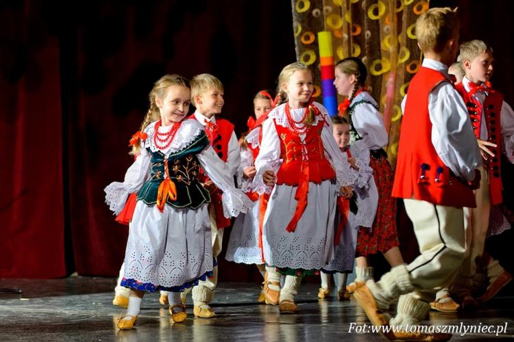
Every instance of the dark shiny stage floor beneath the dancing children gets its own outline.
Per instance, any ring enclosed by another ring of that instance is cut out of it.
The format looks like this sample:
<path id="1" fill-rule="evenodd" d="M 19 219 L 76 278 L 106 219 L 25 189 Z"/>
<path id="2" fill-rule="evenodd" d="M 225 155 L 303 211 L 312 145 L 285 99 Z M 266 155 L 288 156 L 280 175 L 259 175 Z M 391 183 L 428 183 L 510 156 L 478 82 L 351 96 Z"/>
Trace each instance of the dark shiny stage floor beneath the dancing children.
<path id="1" fill-rule="evenodd" d="M 353 300 L 317 300 L 318 285 L 302 285 L 299 313 L 280 315 L 278 306 L 257 304 L 258 284 L 219 284 L 213 307 L 217 317 L 193 317 L 170 323 L 158 294 L 146 295 L 135 330 L 118 331 L 122 309 L 112 306 L 114 278 L 70 277 L 57 280 L 0 280 L 1 288 L 19 288 L 21 295 L 0 293 L 0 341 L 384 341 L 378 334 L 349 332 L 369 324 Z M 501 293 L 500 293 L 501 294 Z M 335 293 L 333 293 L 335 295 Z M 504 327 L 506 333 L 454 334 L 452 341 L 514 338 L 514 298 L 494 298 L 474 313 L 430 312 L 432 325 Z"/>

